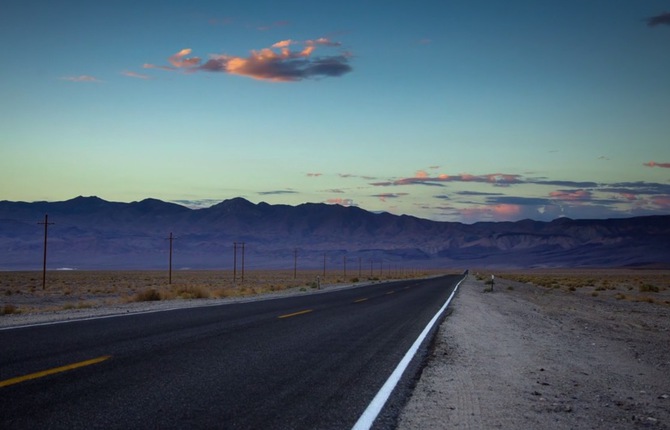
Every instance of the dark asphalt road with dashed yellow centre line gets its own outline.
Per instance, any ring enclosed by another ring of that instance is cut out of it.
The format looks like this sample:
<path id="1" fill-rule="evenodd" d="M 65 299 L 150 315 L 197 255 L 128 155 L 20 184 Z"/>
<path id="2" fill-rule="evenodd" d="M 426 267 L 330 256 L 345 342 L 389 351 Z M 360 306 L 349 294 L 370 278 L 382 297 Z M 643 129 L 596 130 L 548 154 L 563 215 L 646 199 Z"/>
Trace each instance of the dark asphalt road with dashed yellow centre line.
<path id="1" fill-rule="evenodd" d="M 0 331 L 0 427 L 348 429 L 460 276 Z"/>

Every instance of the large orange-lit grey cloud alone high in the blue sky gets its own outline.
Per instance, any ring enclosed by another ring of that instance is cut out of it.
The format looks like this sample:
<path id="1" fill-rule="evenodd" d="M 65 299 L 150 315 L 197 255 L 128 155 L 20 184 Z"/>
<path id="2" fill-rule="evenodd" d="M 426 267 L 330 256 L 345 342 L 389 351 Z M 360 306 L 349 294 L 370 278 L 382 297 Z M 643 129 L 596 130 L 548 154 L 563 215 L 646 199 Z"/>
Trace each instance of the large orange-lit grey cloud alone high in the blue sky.
<path id="1" fill-rule="evenodd" d="M 300 49 L 291 50 L 293 46 L 299 46 Z M 183 72 L 207 71 L 265 81 L 295 82 L 311 78 L 338 77 L 351 72 L 349 53 L 314 55 L 317 48 L 340 46 L 341 43 L 326 38 L 306 41 L 287 39 L 269 48 L 251 51 L 247 57 L 212 54 L 204 63 L 200 57 L 190 56 L 192 50 L 185 48 L 168 58 L 169 66 L 146 63 L 143 68 Z"/>

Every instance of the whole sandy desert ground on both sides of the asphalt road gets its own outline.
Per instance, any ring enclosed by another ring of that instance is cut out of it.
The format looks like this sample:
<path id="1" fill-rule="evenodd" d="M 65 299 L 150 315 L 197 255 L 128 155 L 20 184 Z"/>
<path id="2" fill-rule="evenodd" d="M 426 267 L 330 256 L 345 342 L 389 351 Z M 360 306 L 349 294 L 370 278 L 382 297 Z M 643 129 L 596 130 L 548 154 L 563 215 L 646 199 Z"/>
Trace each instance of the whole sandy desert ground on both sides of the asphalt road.
<path id="1" fill-rule="evenodd" d="M 670 271 L 470 272 L 399 429 L 670 429 Z M 0 326 L 435 274 L 0 272 Z"/>

